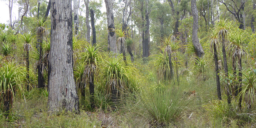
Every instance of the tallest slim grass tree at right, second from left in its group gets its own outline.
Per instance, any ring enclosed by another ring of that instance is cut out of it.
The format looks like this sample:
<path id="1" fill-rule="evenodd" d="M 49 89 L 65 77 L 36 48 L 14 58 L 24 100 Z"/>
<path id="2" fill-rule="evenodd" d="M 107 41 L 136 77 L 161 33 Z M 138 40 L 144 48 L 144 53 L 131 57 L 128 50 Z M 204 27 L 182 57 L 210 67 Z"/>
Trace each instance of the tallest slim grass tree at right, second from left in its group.
<path id="1" fill-rule="evenodd" d="M 227 63 L 227 57 L 226 57 L 226 43 L 228 42 L 228 24 L 226 20 L 220 20 L 220 22 L 218 23 L 218 36 L 222 42 L 222 54 L 223 54 L 225 76 L 228 77 L 228 63 Z M 231 101 L 230 101 L 230 91 L 229 91 L 228 84 L 226 84 L 226 90 L 227 90 L 226 94 L 228 97 L 228 104 L 230 104 Z"/>

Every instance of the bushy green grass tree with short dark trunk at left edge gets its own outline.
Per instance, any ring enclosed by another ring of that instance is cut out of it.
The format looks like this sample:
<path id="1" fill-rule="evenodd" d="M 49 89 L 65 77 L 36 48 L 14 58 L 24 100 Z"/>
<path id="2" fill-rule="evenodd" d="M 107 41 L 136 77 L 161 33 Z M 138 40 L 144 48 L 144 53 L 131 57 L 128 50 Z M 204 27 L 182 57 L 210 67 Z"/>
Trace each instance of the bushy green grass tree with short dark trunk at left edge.
<path id="1" fill-rule="evenodd" d="M 6 112 L 12 108 L 15 91 L 22 92 L 23 71 L 14 61 L 6 62 L 0 68 L 0 102 L 3 102 Z"/>

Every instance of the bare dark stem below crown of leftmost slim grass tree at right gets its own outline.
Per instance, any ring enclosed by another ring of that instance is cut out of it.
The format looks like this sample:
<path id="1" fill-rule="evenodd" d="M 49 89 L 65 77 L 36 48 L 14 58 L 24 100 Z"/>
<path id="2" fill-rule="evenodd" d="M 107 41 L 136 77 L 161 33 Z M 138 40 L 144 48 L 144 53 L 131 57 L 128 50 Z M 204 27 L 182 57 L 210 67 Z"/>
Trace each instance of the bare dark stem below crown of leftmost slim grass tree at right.
<path id="1" fill-rule="evenodd" d="M 217 56 L 217 48 L 216 48 L 215 43 L 213 44 L 213 48 L 214 48 L 214 62 L 215 62 L 215 71 L 216 71 L 217 94 L 218 94 L 218 99 L 221 100 L 218 56 Z"/>

